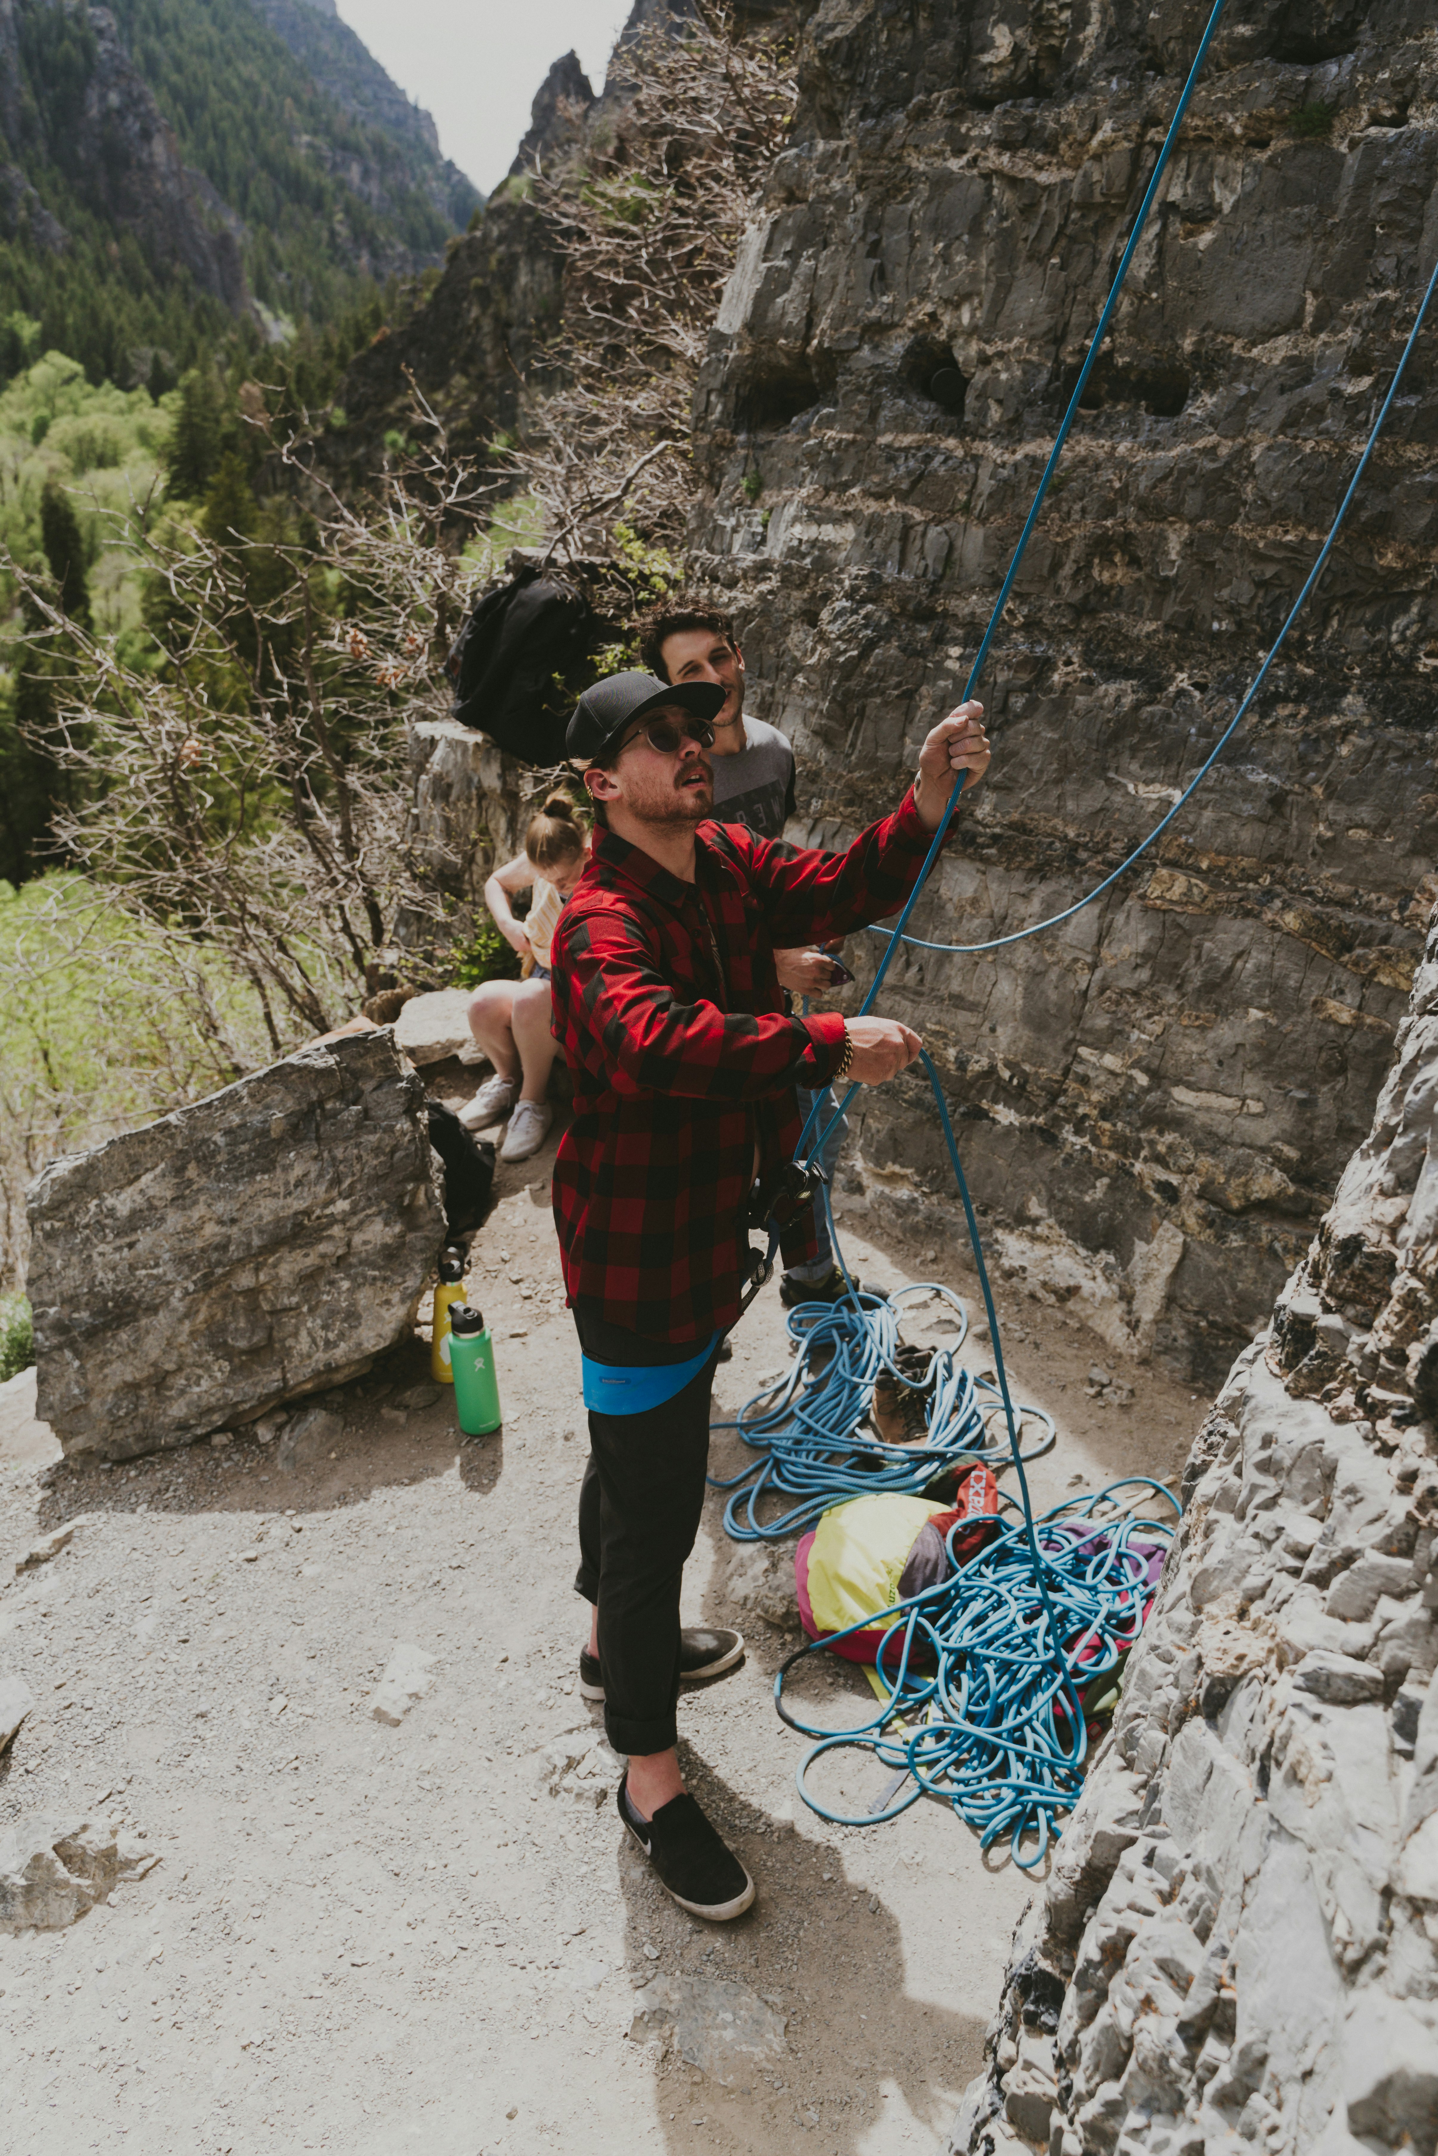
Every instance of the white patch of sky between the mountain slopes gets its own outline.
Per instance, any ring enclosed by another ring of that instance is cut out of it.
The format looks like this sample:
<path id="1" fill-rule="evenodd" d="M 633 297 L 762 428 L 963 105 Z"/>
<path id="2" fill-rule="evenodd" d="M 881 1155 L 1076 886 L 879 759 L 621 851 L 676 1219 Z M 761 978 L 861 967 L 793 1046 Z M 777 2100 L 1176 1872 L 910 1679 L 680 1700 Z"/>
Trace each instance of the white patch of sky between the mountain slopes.
<path id="1" fill-rule="evenodd" d="M 444 155 L 489 194 L 552 60 L 573 45 L 595 91 L 604 86 L 630 0 L 338 0 L 338 13 L 433 112 Z"/>

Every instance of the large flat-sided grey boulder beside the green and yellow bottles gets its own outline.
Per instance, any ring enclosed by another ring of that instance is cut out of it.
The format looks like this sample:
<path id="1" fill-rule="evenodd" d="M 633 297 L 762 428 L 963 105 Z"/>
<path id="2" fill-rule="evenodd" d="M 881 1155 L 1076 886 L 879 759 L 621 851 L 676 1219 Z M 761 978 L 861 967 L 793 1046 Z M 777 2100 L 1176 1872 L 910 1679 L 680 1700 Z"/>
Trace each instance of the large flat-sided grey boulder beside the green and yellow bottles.
<path id="1" fill-rule="evenodd" d="M 362 1371 L 444 1229 L 388 1031 L 302 1048 L 30 1186 L 39 1414 L 127 1460 Z"/>

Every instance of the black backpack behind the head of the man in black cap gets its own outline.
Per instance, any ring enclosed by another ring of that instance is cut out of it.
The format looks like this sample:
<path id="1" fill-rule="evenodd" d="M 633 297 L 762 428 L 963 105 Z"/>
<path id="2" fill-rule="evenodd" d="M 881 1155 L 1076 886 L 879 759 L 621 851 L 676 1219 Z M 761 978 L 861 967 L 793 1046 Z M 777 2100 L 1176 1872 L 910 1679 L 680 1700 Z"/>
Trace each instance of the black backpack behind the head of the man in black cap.
<path id="1" fill-rule="evenodd" d="M 526 563 L 485 593 L 459 632 L 448 655 L 451 718 L 522 763 L 561 763 L 573 699 L 608 634 L 582 591 Z"/>

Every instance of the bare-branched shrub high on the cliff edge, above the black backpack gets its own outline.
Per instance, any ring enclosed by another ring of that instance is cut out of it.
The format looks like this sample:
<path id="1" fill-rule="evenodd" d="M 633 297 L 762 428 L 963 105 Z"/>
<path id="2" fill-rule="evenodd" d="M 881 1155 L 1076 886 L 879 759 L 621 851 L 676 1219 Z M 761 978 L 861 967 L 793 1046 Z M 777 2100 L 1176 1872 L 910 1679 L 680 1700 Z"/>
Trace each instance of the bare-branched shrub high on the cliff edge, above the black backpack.
<path id="1" fill-rule="evenodd" d="M 614 526 L 677 548 L 694 498 L 690 407 L 699 362 L 757 190 L 793 114 L 793 45 L 739 34 L 701 0 L 679 30 L 651 24 L 614 54 L 625 103 L 608 134 L 535 175 L 565 250 L 565 326 L 545 351 L 558 384 L 511 470 L 554 550 L 604 554 Z"/>

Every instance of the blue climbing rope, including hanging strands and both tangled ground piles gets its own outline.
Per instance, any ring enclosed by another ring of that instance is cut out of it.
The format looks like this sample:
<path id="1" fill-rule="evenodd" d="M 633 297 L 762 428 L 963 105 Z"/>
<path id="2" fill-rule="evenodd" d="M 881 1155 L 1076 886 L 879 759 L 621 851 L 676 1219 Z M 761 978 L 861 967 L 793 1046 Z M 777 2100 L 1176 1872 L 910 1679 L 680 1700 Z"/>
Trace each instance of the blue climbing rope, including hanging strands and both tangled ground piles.
<path id="1" fill-rule="evenodd" d="M 1188 71 L 1188 80 L 1175 106 L 1164 144 L 1138 207 L 1134 229 L 1128 237 L 1128 246 L 1123 248 L 1112 289 L 1100 315 L 1054 446 L 1048 464 L 1043 466 L 1033 507 L 1013 550 L 1013 561 L 1009 563 L 1003 589 L 994 602 L 990 623 L 964 688 L 964 701 L 974 694 L 983 675 L 990 647 L 998 634 L 998 625 L 1009 604 L 1009 593 L 1013 591 L 1020 563 L 1028 548 L 1031 533 L 1037 524 L 1043 498 L 1063 453 L 1063 444 L 1067 442 L 1078 414 L 1089 375 L 1117 308 L 1119 293 L 1123 291 L 1130 263 L 1143 237 L 1143 229 L 1158 196 L 1184 114 L 1192 99 L 1225 6 L 1227 0 L 1216 0 L 1203 30 L 1194 63 Z M 1272 649 L 1266 653 L 1231 722 L 1169 815 L 1162 817 L 1147 839 L 1132 854 L 1128 854 L 1128 858 L 1110 875 L 1106 875 L 1093 890 L 1063 912 L 1009 936 L 996 936 L 979 944 L 923 942 L 921 938 L 905 936 L 905 927 L 929 873 L 934 871 L 949 824 L 953 821 L 959 793 L 964 791 L 964 774 L 959 774 L 918 880 L 895 929 L 875 929 L 875 934 L 886 936 L 888 942 L 873 983 L 862 998 L 860 1013 L 869 1013 L 873 1009 L 880 987 L 884 985 L 884 977 L 901 944 L 908 942 L 927 951 L 977 953 L 1003 949 L 1024 940 L 1026 936 L 1039 936 L 1065 921 L 1071 921 L 1074 914 L 1082 912 L 1087 906 L 1093 906 L 1095 899 L 1110 890 L 1112 884 L 1117 884 L 1119 877 L 1125 875 L 1128 869 L 1132 869 L 1173 824 L 1197 787 L 1207 778 L 1218 755 L 1248 714 L 1300 610 L 1324 573 L 1339 530 L 1347 517 L 1347 509 L 1388 420 L 1388 412 L 1404 379 L 1410 354 L 1419 341 L 1419 332 L 1423 330 L 1436 289 L 1438 263 L 1427 280 L 1408 343 L 1404 345 L 1393 373 L 1388 395 L 1384 397 L 1373 420 L 1358 466 L 1339 502 L 1337 515 L 1313 569 L 1309 571 L 1302 591 L 1289 608 Z M 916 1802 L 918 1796 L 936 1794 L 949 1800 L 953 1809 L 979 1830 L 985 1848 L 1007 1830 L 1015 1861 L 1024 1867 L 1033 1867 L 1043 1858 L 1050 1830 L 1054 1828 L 1054 1815 L 1071 1807 L 1082 1779 L 1087 1727 L 1076 1675 L 1084 1675 L 1089 1697 L 1093 1697 L 1093 1682 L 1110 1675 L 1136 1639 L 1145 1617 L 1145 1580 L 1140 1578 L 1138 1563 L 1143 1561 L 1145 1578 L 1153 1563 L 1151 1550 L 1145 1552 L 1143 1544 L 1162 1544 L 1162 1539 L 1171 1533 L 1171 1526 L 1166 1522 L 1134 1520 L 1130 1516 L 1119 1516 L 1117 1511 L 1112 1518 L 1100 1518 L 1100 1509 L 1110 1498 L 1110 1492 L 1071 1498 L 1043 1514 L 1041 1520 L 1035 1520 L 1028 1496 L 1028 1479 L 1024 1473 L 1024 1453 L 1020 1447 L 1020 1412 L 1013 1408 L 1009 1393 L 1003 1343 L 998 1335 L 998 1315 L 994 1311 L 987 1268 L 983 1263 L 983 1246 L 979 1240 L 979 1222 L 974 1218 L 968 1184 L 964 1179 L 964 1166 L 959 1162 L 949 1119 L 949 1104 L 944 1100 L 938 1072 L 927 1054 L 921 1056 L 921 1063 L 929 1078 L 934 1104 L 944 1130 L 944 1143 L 949 1147 L 949 1160 L 964 1205 L 974 1263 L 979 1268 L 979 1287 L 987 1311 L 990 1337 L 994 1341 L 998 1399 L 992 1401 L 987 1397 L 994 1386 L 987 1386 L 981 1393 L 981 1382 L 974 1382 L 966 1373 L 957 1371 L 953 1363 L 957 1345 L 931 1360 L 925 1380 L 914 1380 L 905 1376 L 903 1369 L 895 1367 L 899 1324 L 895 1304 L 901 1298 L 888 1300 L 865 1296 L 854 1287 L 849 1270 L 843 1266 L 843 1253 L 839 1250 L 828 1190 L 821 1190 L 824 1210 L 830 1214 L 832 1246 L 845 1272 L 849 1300 L 841 1307 L 806 1304 L 793 1311 L 791 1332 L 800 1341 L 800 1358 L 783 1384 L 757 1395 L 739 1414 L 739 1423 L 735 1427 L 739 1427 L 746 1442 L 761 1449 L 765 1457 L 729 1483 L 733 1494 L 724 1514 L 724 1526 L 737 1539 L 772 1539 L 776 1535 L 791 1535 L 826 1511 L 830 1503 L 860 1494 L 860 1490 L 856 1490 L 849 1481 L 854 1475 L 854 1429 L 858 1419 L 869 1408 L 873 1380 L 880 1371 L 888 1371 L 901 1386 L 914 1382 L 923 1384 L 927 1378 L 934 1378 L 936 1395 L 927 1408 L 927 1449 L 880 1449 L 884 1455 L 882 1466 L 875 1473 L 860 1470 L 862 1494 L 890 1488 L 923 1488 L 923 1483 L 914 1477 L 923 1473 L 923 1468 L 929 1468 L 931 1475 L 934 1460 L 940 1453 L 946 1462 L 968 1455 L 974 1460 L 987 1457 L 990 1464 L 996 1464 L 994 1449 L 990 1445 L 987 1414 L 996 1412 L 996 1406 L 1003 1406 L 1009 1464 L 1018 1475 L 1020 1490 L 1018 1501 L 1005 1498 L 1005 1503 L 1018 1511 L 1018 1518 L 1003 1531 L 990 1550 L 964 1565 L 942 1587 L 929 1589 L 925 1595 L 916 1595 L 910 1604 L 897 1606 L 893 1649 L 884 1649 L 884 1664 L 880 1671 L 882 1686 L 886 1690 L 880 1714 L 852 1729 L 834 1731 L 817 1729 L 815 1725 L 800 1720 L 785 1705 L 785 1673 L 798 1660 L 824 1651 L 832 1645 L 830 1641 L 817 1641 L 802 1647 L 800 1654 L 793 1656 L 785 1669 L 780 1669 L 774 1684 L 774 1699 L 780 1716 L 791 1723 L 791 1727 L 817 1738 L 813 1751 L 798 1770 L 798 1787 L 804 1802 L 811 1805 L 811 1809 L 821 1818 L 849 1826 L 875 1824 L 880 1820 L 895 1818 L 908 1805 Z M 856 1091 L 856 1087 L 849 1087 L 836 1108 L 836 1115 L 821 1132 L 817 1128 L 821 1121 L 821 1108 L 815 1104 L 800 1138 L 800 1160 L 808 1160 L 824 1149 L 828 1132 L 843 1117 Z M 830 1360 L 824 1371 L 815 1369 L 815 1354 L 819 1345 L 830 1350 Z M 1033 1410 L 1026 1412 L 1033 1414 Z M 1052 1434 L 1052 1423 L 1048 1423 L 1048 1429 Z M 862 1449 L 865 1453 L 873 1451 L 869 1440 L 862 1440 Z M 893 1460 L 890 1453 L 901 1453 L 903 1457 Z M 905 1468 L 910 1479 L 901 1479 Z M 882 1479 L 890 1473 L 895 1477 L 893 1481 Z M 1158 1483 L 1147 1483 L 1145 1488 L 1158 1490 L 1177 1514 L 1179 1507 L 1171 1492 L 1162 1490 Z M 759 1520 L 757 1507 L 770 1492 L 798 1496 L 800 1503 L 783 1518 L 774 1518 L 765 1524 Z M 871 1628 L 875 1615 L 860 1619 L 860 1623 L 849 1630 Z M 845 1636 L 847 1634 L 839 1634 L 839 1639 Z M 925 1654 L 931 1669 L 921 1667 L 921 1658 Z M 914 1716 L 918 1718 L 916 1727 L 908 1727 Z M 873 1751 L 882 1764 L 899 1770 L 899 1783 L 862 1815 L 832 1811 L 806 1785 L 806 1774 L 821 1755 L 854 1746 Z M 908 1779 L 912 1779 L 914 1787 L 897 1800 L 897 1787 Z M 1037 1837 L 1037 1850 L 1024 1856 L 1020 1850 L 1024 1839 L 1031 1835 Z"/>

